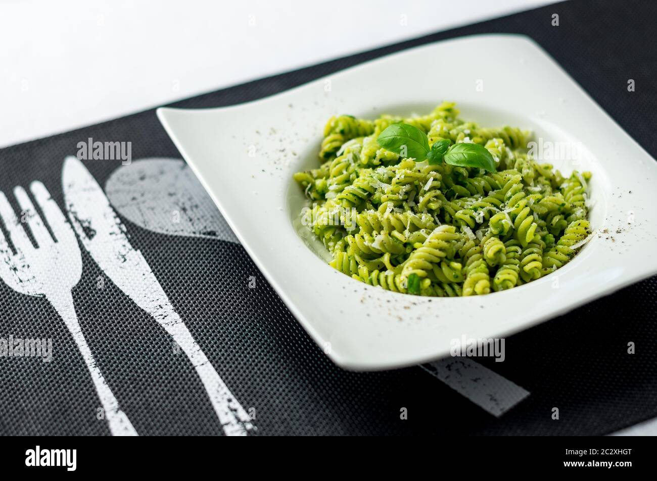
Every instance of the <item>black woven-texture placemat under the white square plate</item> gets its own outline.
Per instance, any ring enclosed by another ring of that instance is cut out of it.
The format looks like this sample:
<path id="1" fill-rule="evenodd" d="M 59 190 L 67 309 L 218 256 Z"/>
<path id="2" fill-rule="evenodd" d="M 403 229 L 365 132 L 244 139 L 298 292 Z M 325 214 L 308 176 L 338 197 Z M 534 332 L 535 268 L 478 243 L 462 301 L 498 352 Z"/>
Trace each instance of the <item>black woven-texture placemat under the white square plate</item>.
<path id="1" fill-rule="evenodd" d="M 552 14 L 560 25 L 551 25 Z M 435 13 L 440 14 L 439 12 Z M 551 54 L 657 156 L 657 3 L 571 1 L 276 75 L 175 106 L 238 104 L 415 45 L 474 33 L 522 33 Z M 499 52 L 500 62 L 505 52 Z M 428 60 L 430 61 L 430 60 Z M 476 59 L 473 59 L 476 61 Z M 627 91 L 634 79 L 636 91 Z M 437 99 L 440 100 L 440 99 Z M 41 180 L 64 208 L 61 172 L 76 145 L 132 142 L 133 159 L 181 157 L 153 110 L 0 150 L 0 190 Z M 619 159 L 623 161 L 623 159 Z M 86 161 L 101 186 L 118 161 Z M 13 199 L 11 199 L 13 202 Z M 16 205 L 14 203 L 14 208 Z M 175 310 L 221 379 L 256 412 L 254 434 L 606 434 L 657 416 L 657 279 L 637 283 L 507 339 L 493 371 L 531 392 L 495 418 L 410 367 L 353 373 L 334 366 L 267 285 L 242 247 L 156 234 L 124 219 Z M 150 316 L 82 251 L 73 290 L 82 331 L 139 434 L 222 434 L 193 366 Z M 249 277 L 256 289 L 249 289 Z M 99 279 L 104 286 L 99 288 Z M 522 308 L 522 299 L 518 299 Z M 0 338 L 51 338 L 53 360 L 0 358 L 0 433 L 110 434 L 72 336 L 46 299 L 0 283 Z M 627 354 L 633 341 L 636 354 Z M 553 420 L 552 408 L 560 419 Z M 408 419 L 400 419 L 407 408 Z"/>

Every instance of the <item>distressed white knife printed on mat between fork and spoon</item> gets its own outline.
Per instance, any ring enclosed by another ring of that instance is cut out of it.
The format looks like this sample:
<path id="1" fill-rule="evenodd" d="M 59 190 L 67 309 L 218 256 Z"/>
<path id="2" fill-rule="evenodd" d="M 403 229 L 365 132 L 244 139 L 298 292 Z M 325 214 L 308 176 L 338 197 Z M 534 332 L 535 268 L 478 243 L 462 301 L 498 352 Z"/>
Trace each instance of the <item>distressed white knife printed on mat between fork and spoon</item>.
<path id="1" fill-rule="evenodd" d="M 106 276 L 162 325 L 187 354 L 208 392 L 223 432 L 228 436 L 246 435 L 253 428 L 249 415 L 173 310 L 146 259 L 130 244 L 125 226 L 101 186 L 76 157 L 64 159 L 62 188 L 68 217 L 82 245 Z"/>

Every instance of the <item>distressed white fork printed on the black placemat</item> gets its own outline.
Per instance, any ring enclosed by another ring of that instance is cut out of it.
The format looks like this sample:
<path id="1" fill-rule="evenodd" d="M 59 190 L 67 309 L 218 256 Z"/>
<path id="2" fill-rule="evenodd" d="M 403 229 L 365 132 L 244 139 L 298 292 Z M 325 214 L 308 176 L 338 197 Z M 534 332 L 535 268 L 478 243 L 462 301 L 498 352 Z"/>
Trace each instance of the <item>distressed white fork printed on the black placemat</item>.
<path id="1" fill-rule="evenodd" d="M 78 322 L 71 295 L 82 274 L 82 258 L 76 235 L 41 182 L 32 182 L 30 190 L 55 240 L 43 224 L 28 193 L 19 186 L 14 188 L 14 196 L 22 211 L 21 219 L 30 227 L 38 245 L 34 247 L 5 194 L 0 192 L 0 218 L 15 251 L 12 252 L 9 241 L 0 232 L 0 278 L 14 291 L 48 299 L 78 345 L 101 400 L 110 432 L 114 436 L 137 436 L 137 431 L 119 409 L 118 401 L 103 379 Z"/>

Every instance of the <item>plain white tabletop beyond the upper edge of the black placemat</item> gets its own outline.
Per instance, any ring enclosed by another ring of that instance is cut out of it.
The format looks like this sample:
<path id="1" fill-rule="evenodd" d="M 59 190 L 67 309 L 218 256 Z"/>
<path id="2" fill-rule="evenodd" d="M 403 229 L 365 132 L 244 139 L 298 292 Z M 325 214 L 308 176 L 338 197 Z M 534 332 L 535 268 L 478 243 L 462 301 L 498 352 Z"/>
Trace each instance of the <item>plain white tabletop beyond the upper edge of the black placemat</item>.
<path id="1" fill-rule="evenodd" d="M 547 3 L 0 0 L 0 147 Z"/>

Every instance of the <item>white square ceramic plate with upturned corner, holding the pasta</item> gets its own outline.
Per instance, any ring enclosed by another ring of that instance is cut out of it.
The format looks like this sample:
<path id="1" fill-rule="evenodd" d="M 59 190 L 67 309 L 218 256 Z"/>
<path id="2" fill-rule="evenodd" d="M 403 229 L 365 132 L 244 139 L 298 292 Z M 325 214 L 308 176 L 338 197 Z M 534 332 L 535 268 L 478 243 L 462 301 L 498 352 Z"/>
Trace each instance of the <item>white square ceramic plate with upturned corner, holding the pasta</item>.
<path id="1" fill-rule="evenodd" d="M 572 262 L 509 291 L 430 299 L 357 282 L 309 248 L 294 224 L 305 199 L 292 174 L 319 165 L 327 119 L 422 114 L 442 100 L 486 127 L 580 146 L 578 165 L 551 162 L 564 175 L 593 173 L 597 234 Z M 657 163 L 526 37 L 432 43 L 256 102 L 158 116 L 284 303 L 348 369 L 440 358 L 462 335 L 503 337 L 657 273 Z"/>

